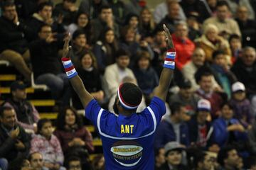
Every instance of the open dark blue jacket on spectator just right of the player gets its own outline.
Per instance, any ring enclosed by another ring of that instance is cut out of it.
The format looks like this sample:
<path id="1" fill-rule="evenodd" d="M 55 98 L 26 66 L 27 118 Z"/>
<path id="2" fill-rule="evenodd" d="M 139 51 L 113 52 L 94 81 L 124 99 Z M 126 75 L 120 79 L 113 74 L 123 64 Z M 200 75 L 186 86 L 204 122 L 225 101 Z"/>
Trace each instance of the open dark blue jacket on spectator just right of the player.
<path id="1" fill-rule="evenodd" d="M 188 136 L 188 125 L 181 123 L 180 125 L 180 143 L 182 145 L 190 145 Z M 158 128 L 156 128 L 156 135 L 154 141 L 154 147 L 164 147 L 167 142 L 176 141 L 176 134 L 174 132 L 173 125 L 168 120 L 161 121 Z"/>

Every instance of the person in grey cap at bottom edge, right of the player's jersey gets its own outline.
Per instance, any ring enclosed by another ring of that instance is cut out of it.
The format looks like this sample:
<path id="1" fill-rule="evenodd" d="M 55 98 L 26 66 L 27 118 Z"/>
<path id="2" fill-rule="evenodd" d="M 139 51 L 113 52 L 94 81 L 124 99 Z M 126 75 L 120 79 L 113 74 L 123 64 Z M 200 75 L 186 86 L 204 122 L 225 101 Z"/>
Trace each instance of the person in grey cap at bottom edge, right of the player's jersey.
<path id="1" fill-rule="evenodd" d="M 178 142 L 168 142 L 164 146 L 166 163 L 159 170 L 187 170 L 188 166 L 181 163 L 184 149 Z"/>

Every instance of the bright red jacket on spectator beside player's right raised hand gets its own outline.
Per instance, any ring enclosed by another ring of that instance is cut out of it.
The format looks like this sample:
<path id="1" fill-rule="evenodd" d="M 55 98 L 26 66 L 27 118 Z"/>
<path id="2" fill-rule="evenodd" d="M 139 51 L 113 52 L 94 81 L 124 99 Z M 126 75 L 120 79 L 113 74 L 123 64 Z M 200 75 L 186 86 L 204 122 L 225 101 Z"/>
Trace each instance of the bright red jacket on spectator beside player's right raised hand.
<path id="1" fill-rule="evenodd" d="M 186 40 L 181 40 L 180 38 L 177 38 L 175 34 L 171 36 L 176 48 L 176 67 L 181 70 L 182 67 L 191 60 L 191 55 L 195 50 L 196 45 L 188 38 L 186 38 Z"/>

